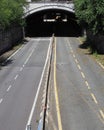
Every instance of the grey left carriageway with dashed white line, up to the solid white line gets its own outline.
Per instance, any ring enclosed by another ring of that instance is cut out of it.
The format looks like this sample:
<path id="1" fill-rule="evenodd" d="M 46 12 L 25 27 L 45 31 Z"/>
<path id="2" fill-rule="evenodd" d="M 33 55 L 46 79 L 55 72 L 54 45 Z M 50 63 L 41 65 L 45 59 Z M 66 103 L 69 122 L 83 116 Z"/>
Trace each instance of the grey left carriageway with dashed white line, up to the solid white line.
<path id="1" fill-rule="evenodd" d="M 0 71 L 0 129 L 25 129 L 50 38 L 32 39 Z"/>

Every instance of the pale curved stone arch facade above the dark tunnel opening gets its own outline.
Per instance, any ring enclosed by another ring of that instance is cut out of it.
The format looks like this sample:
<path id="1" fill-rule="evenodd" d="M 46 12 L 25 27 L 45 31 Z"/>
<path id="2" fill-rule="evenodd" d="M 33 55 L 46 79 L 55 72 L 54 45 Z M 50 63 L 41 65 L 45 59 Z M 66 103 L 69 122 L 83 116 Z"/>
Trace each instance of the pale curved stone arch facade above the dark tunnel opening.
<path id="1" fill-rule="evenodd" d="M 40 11 L 45 11 L 45 10 L 63 10 L 63 11 L 68 11 L 71 13 L 74 13 L 74 4 L 71 2 L 67 3 L 61 3 L 61 2 L 49 2 L 49 3 L 36 3 L 32 2 L 29 3 L 28 7 L 25 9 L 25 16 L 27 17 L 33 13 L 37 13 Z"/>

